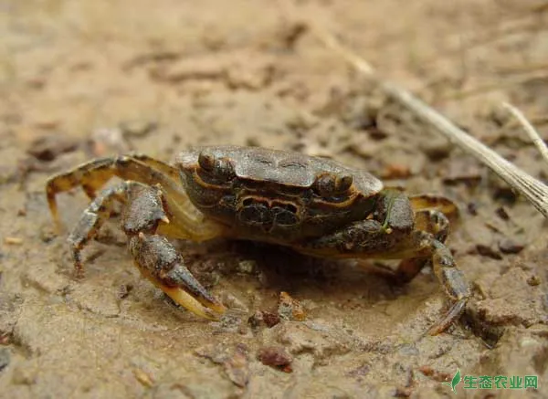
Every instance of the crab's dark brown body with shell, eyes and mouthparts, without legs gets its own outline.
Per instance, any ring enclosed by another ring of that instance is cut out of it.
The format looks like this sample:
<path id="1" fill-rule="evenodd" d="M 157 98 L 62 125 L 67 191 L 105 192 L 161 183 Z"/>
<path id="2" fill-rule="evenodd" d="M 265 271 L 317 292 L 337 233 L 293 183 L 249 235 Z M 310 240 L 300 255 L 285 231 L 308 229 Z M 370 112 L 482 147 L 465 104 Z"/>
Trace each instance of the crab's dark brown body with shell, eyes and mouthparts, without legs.
<path id="1" fill-rule="evenodd" d="M 363 220 L 383 188 L 369 173 L 296 152 L 208 147 L 183 152 L 177 163 L 205 215 L 239 238 L 282 245 Z"/>

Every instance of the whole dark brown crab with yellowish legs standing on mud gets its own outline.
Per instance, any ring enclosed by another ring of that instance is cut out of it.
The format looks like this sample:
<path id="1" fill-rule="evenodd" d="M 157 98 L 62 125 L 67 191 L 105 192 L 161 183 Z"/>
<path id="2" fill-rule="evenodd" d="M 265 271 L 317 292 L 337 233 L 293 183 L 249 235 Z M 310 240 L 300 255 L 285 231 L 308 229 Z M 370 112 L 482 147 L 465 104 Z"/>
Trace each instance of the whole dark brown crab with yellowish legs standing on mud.
<path id="1" fill-rule="evenodd" d="M 121 182 L 104 188 L 114 176 Z M 429 330 L 433 335 L 458 320 L 470 296 L 444 244 L 448 217 L 458 212 L 451 201 L 407 196 L 331 159 L 238 146 L 181 152 L 174 165 L 142 154 L 96 159 L 47 181 L 59 230 L 56 194 L 78 186 L 91 202 L 68 236 L 77 273 L 82 249 L 121 202 L 121 229 L 142 276 L 204 318 L 218 319 L 226 308 L 193 277 L 167 237 L 255 240 L 313 257 L 399 258 L 398 268 L 381 271 L 405 282 L 431 263 L 451 303 Z"/>

